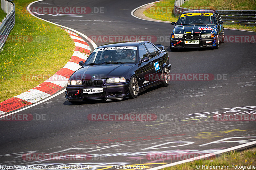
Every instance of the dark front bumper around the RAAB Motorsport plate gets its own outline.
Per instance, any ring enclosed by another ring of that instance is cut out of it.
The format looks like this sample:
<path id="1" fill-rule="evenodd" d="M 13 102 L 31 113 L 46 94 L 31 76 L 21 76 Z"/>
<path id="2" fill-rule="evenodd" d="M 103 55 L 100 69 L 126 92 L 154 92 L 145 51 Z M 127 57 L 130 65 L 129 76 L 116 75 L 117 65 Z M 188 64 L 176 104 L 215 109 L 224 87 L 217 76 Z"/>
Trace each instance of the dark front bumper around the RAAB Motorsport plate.
<path id="1" fill-rule="evenodd" d="M 85 87 L 85 86 L 68 86 L 66 96 L 69 102 L 82 102 L 87 100 L 122 100 L 128 98 L 129 81 L 118 84 L 104 84 L 103 86 Z M 87 94 L 83 89 L 103 88 L 103 93 Z M 79 92 L 78 92 L 79 90 Z"/>

